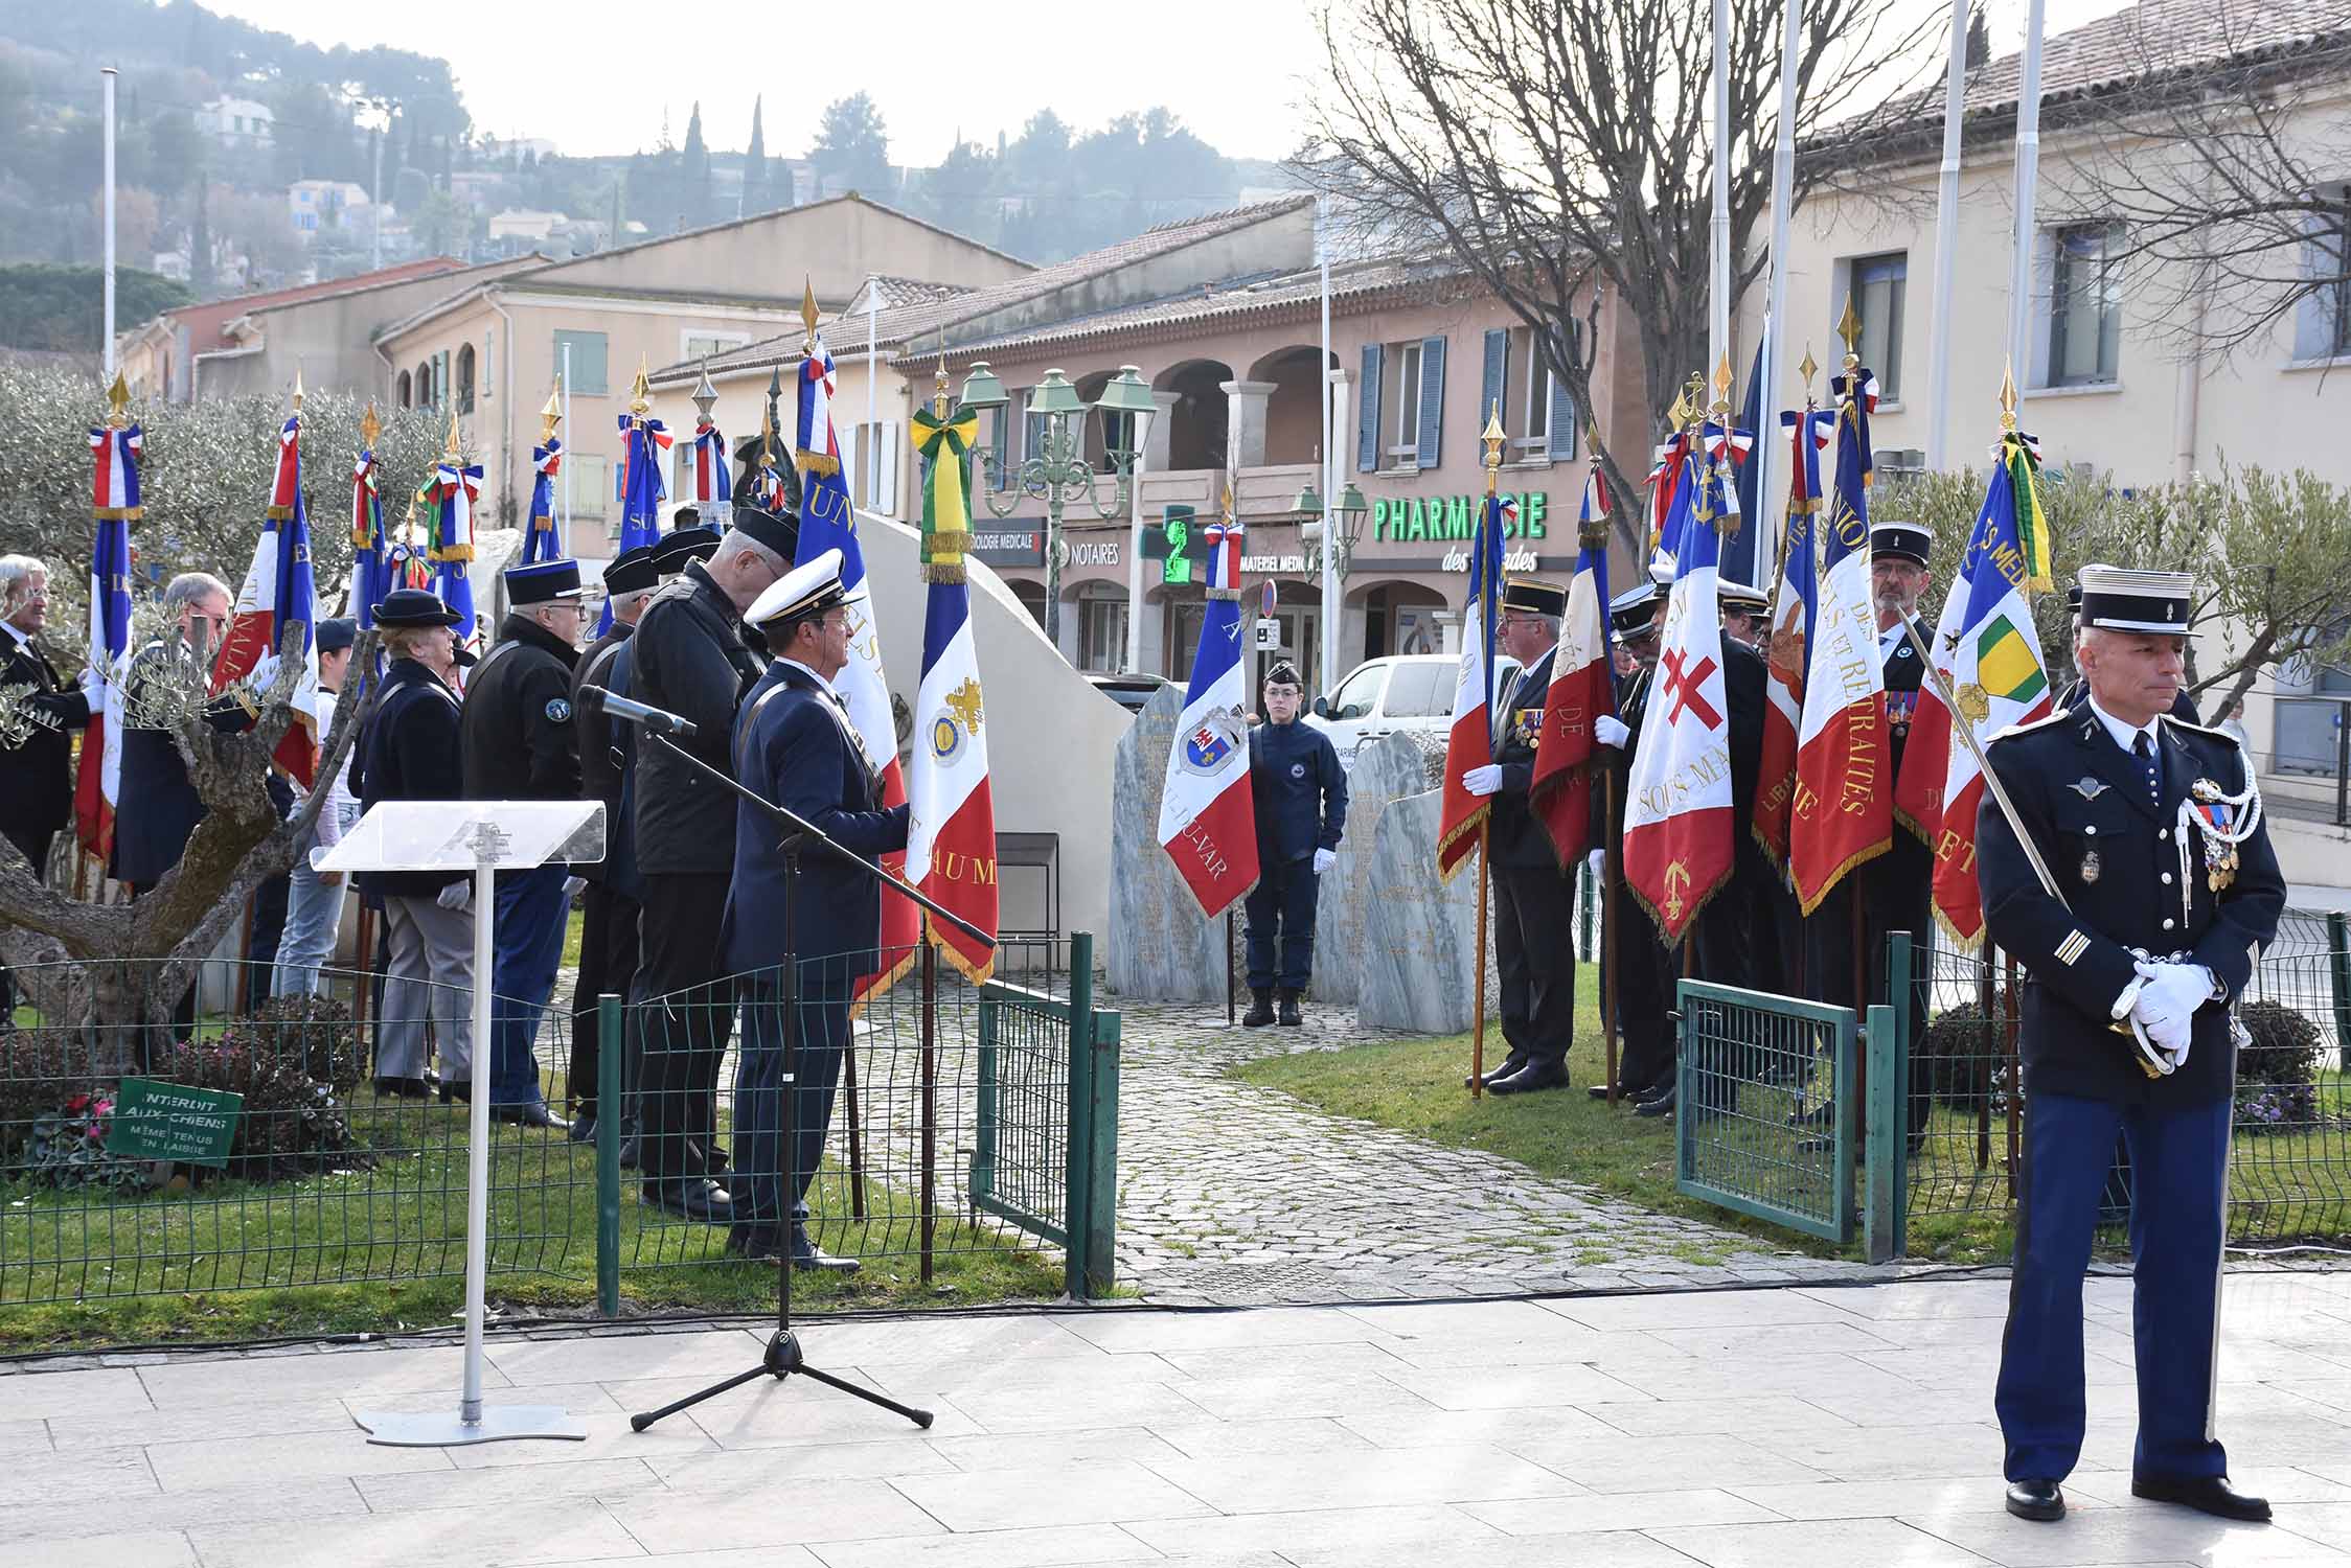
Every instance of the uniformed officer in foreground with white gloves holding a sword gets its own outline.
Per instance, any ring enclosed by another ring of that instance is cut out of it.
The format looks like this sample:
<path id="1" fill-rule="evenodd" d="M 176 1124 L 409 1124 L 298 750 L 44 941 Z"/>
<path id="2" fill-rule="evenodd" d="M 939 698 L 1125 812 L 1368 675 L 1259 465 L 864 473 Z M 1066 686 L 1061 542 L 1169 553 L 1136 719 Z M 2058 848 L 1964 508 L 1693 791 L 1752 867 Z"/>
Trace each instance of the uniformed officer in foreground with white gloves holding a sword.
<path id="1" fill-rule="evenodd" d="M 2001 1342 L 2008 1512 L 2059 1519 L 2081 1458 L 2081 1279 L 2116 1131 L 2130 1145 L 2132 1347 L 2139 1441 L 2130 1490 L 2224 1519 L 2269 1519 L 2229 1486 L 2212 1436 L 2219 1262 L 2229 1204 L 2236 1020 L 2285 879 L 2252 759 L 2170 717 L 2193 581 L 2085 567 L 2078 708 L 1994 738 L 2020 830 L 1987 795 L 1977 882 L 1991 940 L 2027 969 L 2024 1175 Z M 2142 1070 L 2144 1032 L 2168 1074 Z"/>

